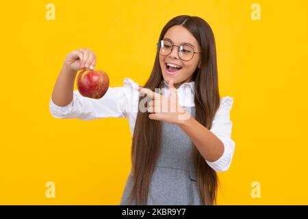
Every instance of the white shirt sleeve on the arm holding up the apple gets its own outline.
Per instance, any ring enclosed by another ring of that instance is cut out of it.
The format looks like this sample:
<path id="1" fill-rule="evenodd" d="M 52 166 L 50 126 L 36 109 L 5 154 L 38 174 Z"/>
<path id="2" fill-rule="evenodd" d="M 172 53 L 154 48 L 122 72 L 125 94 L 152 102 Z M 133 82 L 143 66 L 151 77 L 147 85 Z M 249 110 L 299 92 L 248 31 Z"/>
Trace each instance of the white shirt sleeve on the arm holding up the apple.
<path id="1" fill-rule="evenodd" d="M 81 96 L 78 90 L 73 91 L 73 100 L 66 106 L 60 107 L 49 102 L 49 110 L 55 118 L 79 118 L 93 120 L 97 118 L 125 118 L 131 109 L 133 86 L 131 79 L 125 78 L 124 86 L 108 88 L 101 99 L 90 99 Z"/>

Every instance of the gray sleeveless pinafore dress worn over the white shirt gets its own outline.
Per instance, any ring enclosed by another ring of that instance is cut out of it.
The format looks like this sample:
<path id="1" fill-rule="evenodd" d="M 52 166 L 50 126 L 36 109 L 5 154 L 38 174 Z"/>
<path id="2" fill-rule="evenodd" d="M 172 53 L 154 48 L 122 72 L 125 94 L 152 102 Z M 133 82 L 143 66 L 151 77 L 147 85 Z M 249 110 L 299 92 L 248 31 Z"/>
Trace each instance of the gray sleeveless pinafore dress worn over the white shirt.
<path id="1" fill-rule="evenodd" d="M 195 107 L 183 108 L 195 118 Z M 202 205 L 191 150 L 192 140 L 180 127 L 162 122 L 162 148 L 154 166 L 146 205 Z M 131 188 L 130 173 L 120 205 L 129 204 Z M 136 205 L 136 200 L 132 205 Z"/>

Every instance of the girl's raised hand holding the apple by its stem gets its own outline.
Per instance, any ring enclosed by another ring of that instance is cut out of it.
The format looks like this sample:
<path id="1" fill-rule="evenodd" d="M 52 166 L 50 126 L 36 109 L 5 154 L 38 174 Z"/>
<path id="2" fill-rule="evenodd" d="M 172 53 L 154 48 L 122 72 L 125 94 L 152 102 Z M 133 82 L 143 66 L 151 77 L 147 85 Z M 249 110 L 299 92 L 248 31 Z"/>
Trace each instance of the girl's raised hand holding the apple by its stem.
<path id="1" fill-rule="evenodd" d="M 82 68 L 90 68 L 91 70 L 97 64 L 97 55 L 90 49 L 78 49 L 66 55 L 64 64 L 72 70 L 81 70 Z"/>

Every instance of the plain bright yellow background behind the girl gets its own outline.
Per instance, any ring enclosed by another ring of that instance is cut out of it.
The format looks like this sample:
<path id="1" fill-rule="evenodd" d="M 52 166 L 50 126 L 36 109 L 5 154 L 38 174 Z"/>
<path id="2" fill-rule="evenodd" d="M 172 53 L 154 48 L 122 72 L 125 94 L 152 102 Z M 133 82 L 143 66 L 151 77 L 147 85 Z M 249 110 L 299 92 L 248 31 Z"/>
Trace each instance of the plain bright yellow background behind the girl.
<path id="1" fill-rule="evenodd" d="M 55 21 L 47 21 L 47 3 Z M 261 5 L 261 21 L 251 5 Z M 118 205 L 131 168 L 125 118 L 49 112 L 66 54 L 97 53 L 110 86 L 143 84 L 162 27 L 201 16 L 216 36 L 221 96 L 233 96 L 235 154 L 218 204 L 308 204 L 306 1 L 5 1 L 1 3 L 0 204 Z M 77 89 L 75 85 L 75 89 Z M 55 182 L 55 198 L 45 183 Z M 251 183 L 261 184 L 252 198 Z"/>

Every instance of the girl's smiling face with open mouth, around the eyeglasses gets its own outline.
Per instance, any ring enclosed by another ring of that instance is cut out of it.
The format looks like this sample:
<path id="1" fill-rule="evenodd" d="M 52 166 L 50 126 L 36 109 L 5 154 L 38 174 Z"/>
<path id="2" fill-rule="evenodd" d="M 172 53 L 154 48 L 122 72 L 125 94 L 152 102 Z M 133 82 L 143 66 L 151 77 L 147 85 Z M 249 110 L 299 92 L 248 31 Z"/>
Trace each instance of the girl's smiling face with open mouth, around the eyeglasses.
<path id="1" fill-rule="evenodd" d="M 177 46 L 181 46 L 183 44 L 189 43 L 192 44 L 194 51 L 198 53 L 194 53 L 194 57 L 192 57 L 189 61 L 183 61 L 179 58 L 178 49 L 179 47 L 173 47 L 171 53 L 169 55 L 159 55 L 159 64 L 162 68 L 162 75 L 164 77 L 164 81 L 169 83 L 170 79 L 173 80 L 175 88 L 179 88 L 182 83 L 190 82 L 192 79 L 192 74 L 196 70 L 196 68 L 200 68 L 201 66 L 201 47 L 190 34 L 190 32 L 182 27 L 181 25 L 175 25 L 168 29 L 163 40 L 170 40 L 172 44 Z M 170 73 L 167 68 L 167 63 L 172 63 L 177 66 L 180 66 L 180 70 L 175 73 Z"/>

